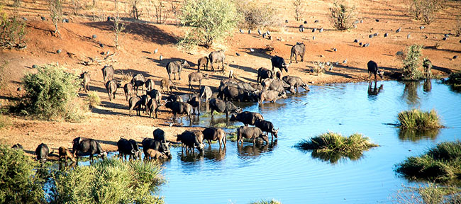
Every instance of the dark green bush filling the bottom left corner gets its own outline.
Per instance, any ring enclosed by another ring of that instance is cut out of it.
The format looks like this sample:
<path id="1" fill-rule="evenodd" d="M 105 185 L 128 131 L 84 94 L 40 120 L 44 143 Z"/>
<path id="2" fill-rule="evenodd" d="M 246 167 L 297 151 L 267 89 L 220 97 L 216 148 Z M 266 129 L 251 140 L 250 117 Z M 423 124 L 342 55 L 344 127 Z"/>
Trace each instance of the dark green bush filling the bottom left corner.
<path id="1" fill-rule="evenodd" d="M 0 144 L 0 203 L 44 203 L 37 165 L 22 149 Z"/>

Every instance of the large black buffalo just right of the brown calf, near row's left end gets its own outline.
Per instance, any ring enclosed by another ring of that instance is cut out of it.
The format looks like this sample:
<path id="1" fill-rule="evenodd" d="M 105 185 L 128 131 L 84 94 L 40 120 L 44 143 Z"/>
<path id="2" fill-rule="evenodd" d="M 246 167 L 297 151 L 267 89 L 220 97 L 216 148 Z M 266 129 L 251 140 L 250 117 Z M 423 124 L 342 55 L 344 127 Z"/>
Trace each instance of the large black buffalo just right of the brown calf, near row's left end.
<path id="1" fill-rule="evenodd" d="M 74 157 L 77 158 L 77 164 L 79 162 L 79 157 L 77 156 L 86 156 L 89 155 L 89 159 L 93 162 L 93 155 L 98 154 L 101 158 L 106 158 L 107 153 L 101 148 L 99 142 L 93 139 L 85 138 L 85 137 L 76 137 L 72 141 L 72 151 Z"/>

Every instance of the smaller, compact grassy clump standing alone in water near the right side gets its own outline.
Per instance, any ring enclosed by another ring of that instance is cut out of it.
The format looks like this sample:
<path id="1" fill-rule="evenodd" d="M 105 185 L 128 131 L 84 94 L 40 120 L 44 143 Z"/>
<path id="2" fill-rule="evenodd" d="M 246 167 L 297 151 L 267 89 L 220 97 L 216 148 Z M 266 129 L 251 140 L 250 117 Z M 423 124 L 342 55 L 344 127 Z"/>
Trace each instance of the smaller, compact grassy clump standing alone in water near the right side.
<path id="1" fill-rule="evenodd" d="M 424 112 L 419 109 L 402 111 L 397 115 L 401 129 L 411 130 L 430 130 L 434 128 L 443 128 L 440 125 L 440 119 L 434 110 Z"/>

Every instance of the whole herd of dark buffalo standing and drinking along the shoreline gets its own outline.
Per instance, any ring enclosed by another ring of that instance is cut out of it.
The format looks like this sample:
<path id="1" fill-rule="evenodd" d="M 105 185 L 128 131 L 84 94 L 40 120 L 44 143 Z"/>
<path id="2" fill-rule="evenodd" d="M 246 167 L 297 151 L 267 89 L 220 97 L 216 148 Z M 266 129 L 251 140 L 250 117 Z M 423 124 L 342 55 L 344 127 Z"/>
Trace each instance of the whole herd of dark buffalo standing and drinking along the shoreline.
<path id="1" fill-rule="evenodd" d="M 297 42 L 291 48 L 290 64 L 291 58 L 294 57 L 297 62 L 296 57 L 301 57 L 301 62 L 304 61 L 304 44 Z M 213 112 L 225 113 L 226 120 L 230 121 L 239 121 L 243 123 L 243 126 L 240 126 L 236 130 L 237 142 L 243 142 L 243 139 L 249 139 L 253 143 L 257 139 L 261 139 L 262 142 L 269 143 L 268 135 L 272 136 L 272 141 L 274 137 L 277 139 L 278 129 L 274 128 L 274 125 L 263 118 L 260 113 L 252 113 L 248 111 L 242 111 L 241 108 L 235 106 L 233 101 L 246 101 L 246 102 L 259 102 L 260 105 L 264 101 L 271 101 L 274 103 L 279 98 L 287 98 L 287 91 L 291 93 L 298 92 L 298 88 L 302 87 L 304 90 L 309 91 L 309 86 L 304 83 L 304 81 L 299 77 L 294 76 L 283 76 L 283 71 L 288 73 L 288 67 L 290 64 L 287 64 L 282 57 L 274 56 L 271 58 L 272 69 L 267 69 L 261 67 L 257 69 L 257 79 L 255 84 L 250 84 L 245 81 L 240 81 L 234 77 L 229 77 L 228 79 L 221 80 L 220 85 L 217 87 L 217 93 L 213 94 L 213 91 L 209 86 L 201 86 L 201 81 L 203 79 L 209 79 L 209 74 L 200 72 L 200 68 L 203 67 L 204 70 L 209 70 L 209 63 L 211 66 L 211 71 L 221 67 L 221 72 L 224 72 L 224 61 L 226 55 L 224 55 L 223 50 L 211 52 L 208 57 L 201 57 L 198 60 L 197 72 L 192 72 L 189 74 L 189 90 L 193 90 L 192 82 L 199 82 L 199 94 L 189 96 L 189 100 L 184 102 L 181 96 L 172 94 L 172 90 L 175 89 L 179 91 L 177 86 L 173 83 L 172 80 L 176 80 L 178 75 L 179 80 L 181 80 L 181 71 L 183 68 L 189 68 L 189 63 L 185 60 L 178 60 L 174 62 L 169 62 L 166 65 L 168 79 L 161 79 L 159 82 L 160 90 L 155 89 L 155 81 L 152 79 L 145 80 L 143 74 L 135 74 L 130 82 L 123 85 L 123 91 L 126 96 L 126 101 L 128 101 L 128 110 L 129 115 L 131 111 L 135 109 L 136 115 L 141 115 L 141 111 L 149 115 L 149 117 L 154 116 L 157 118 L 157 110 L 160 106 L 165 106 L 169 108 L 173 113 L 173 122 L 176 121 L 178 114 L 185 114 L 191 118 L 193 112 L 200 114 L 200 104 L 204 100 L 206 105 L 211 111 L 211 120 L 213 120 Z M 216 66 L 213 66 L 216 64 Z M 221 65 L 221 66 L 219 66 Z M 121 87 L 120 82 L 114 79 L 114 69 L 111 65 L 104 66 L 102 70 L 104 84 L 109 94 L 109 101 L 112 98 L 115 98 L 116 91 Z M 379 74 L 382 76 L 382 71 L 379 71 L 377 64 L 370 61 L 368 63 L 368 71 L 371 74 Z M 172 79 L 171 75 L 174 75 Z M 233 74 L 230 74 L 232 76 Z M 89 73 L 84 72 L 81 74 L 82 86 L 84 91 L 89 90 Z M 144 86 L 146 91 L 144 92 Z M 141 88 L 142 93 L 145 93 L 141 96 L 138 95 L 138 89 Z M 169 96 L 165 96 L 165 103 L 162 103 L 162 94 L 168 93 Z M 134 95 L 134 96 L 132 96 Z M 216 96 L 213 98 L 213 96 Z M 207 108 L 208 109 L 208 108 Z M 194 111 L 197 110 L 197 111 Z M 248 125 L 255 125 L 254 127 L 249 127 Z M 204 152 L 204 141 L 207 141 L 211 145 L 211 141 L 219 142 L 219 149 L 223 146 L 226 148 L 226 132 L 221 128 L 205 128 L 203 131 L 200 130 L 186 130 L 179 135 L 176 135 L 176 142 L 181 142 L 182 152 L 191 152 L 194 153 L 194 149 L 197 149 L 199 152 Z M 277 141 L 277 140 L 276 140 Z M 141 150 L 143 149 L 144 159 L 162 159 L 162 158 L 171 158 L 170 153 L 170 142 L 167 142 L 165 137 L 164 130 L 157 128 L 153 132 L 153 138 L 146 137 L 142 142 L 135 140 L 126 140 L 121 138 L 116 143 L 118 147 L 119 157 L 122 159 L 140 159 Z M 14 145 L 13 148 L 21 148 L 22 146 Z M 94 140 L 86 137 L 77 137 L 72 141 L 72 152 L 65 147 L 59 148 L 59 157 L 60 160 L 71 159 L 72 161 L 78 162 L 78 158 L 81 156 L 89 156 L 91 162 L 93 161 L 94 155 L 99 157 L 106 157 L 107 153 L 101 148 L 98 140 Z M 35 154 L 37 160 L 40 162 L 45 162 L 48 159 L 48 154 L 50 154 L 50 149 L 45 144 L 38 145 L 35 149 Z"/>

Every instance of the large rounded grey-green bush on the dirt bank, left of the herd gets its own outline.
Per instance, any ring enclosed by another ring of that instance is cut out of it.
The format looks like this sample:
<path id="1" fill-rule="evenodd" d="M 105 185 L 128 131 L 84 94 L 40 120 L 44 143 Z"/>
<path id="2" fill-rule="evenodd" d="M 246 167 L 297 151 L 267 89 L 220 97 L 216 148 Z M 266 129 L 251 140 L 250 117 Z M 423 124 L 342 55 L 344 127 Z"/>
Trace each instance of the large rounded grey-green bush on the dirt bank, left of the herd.
<path id="1" fill-rule="evenodd" d="M 43 120 L 81 119 L 81 106 L 75 106 L 80 83 L 77 75 L 64 72 L 62 67 L 38 67 L 37 74 L 26 74 L 22 79 L 26 95 L 19 105 L 24 106 L 21 111 Z"/>

